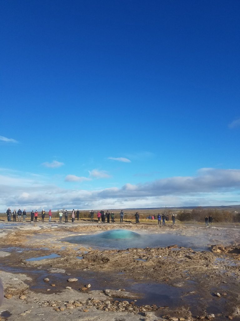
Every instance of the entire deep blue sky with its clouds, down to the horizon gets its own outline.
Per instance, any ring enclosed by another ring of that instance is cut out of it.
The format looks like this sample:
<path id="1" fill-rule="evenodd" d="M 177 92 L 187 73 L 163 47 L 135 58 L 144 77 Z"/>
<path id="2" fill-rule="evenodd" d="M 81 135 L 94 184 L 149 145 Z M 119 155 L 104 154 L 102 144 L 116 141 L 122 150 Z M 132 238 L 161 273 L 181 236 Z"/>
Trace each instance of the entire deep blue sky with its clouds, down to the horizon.
<path id="1" fill-rule="evenodd" d="M 2 1 L 0 211 L 240 204 L 238 1 Z"/>

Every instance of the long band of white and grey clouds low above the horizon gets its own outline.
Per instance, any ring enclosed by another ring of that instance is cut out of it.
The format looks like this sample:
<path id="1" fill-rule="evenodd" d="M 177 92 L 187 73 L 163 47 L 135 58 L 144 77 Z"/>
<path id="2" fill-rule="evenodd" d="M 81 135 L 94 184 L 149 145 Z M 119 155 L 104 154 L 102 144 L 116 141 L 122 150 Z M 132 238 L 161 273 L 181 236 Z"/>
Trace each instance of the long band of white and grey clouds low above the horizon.
<path id="1" fill-rule="evenodd" d="M 99 171 L 92 172 L 93 176 L 99 174 Z M 69 181 L 87 179 L 75 175 L 67 177 Z M 198 170 L 196 176 L 162 178 L 136 185 L 126 183 L 121 188 L 100 190 L 61 188 L 52 185 L 46 178 L 34 175 L 23 178 L 8 173 L 0 175 L 0 182 L 1 212 L 9 206 L 32 210 L 43 206 L 52 209 L 100 209 L 240 203 L 240 169 L 204 168 Z"/>

